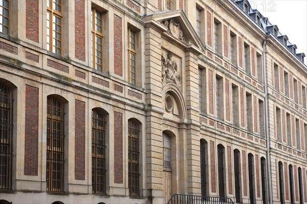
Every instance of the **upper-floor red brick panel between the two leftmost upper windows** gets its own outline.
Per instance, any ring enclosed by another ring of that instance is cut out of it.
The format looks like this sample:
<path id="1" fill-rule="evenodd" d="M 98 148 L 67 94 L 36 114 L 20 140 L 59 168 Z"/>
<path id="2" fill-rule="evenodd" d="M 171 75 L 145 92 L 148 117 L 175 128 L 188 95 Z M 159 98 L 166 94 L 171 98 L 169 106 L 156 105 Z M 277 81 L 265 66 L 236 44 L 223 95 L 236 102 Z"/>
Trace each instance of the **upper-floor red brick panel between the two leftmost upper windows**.
<path id="1" fill-rule="evenodd" d="M 38 42 L 38 0 L 26 0 L 26 37 Z"/>

